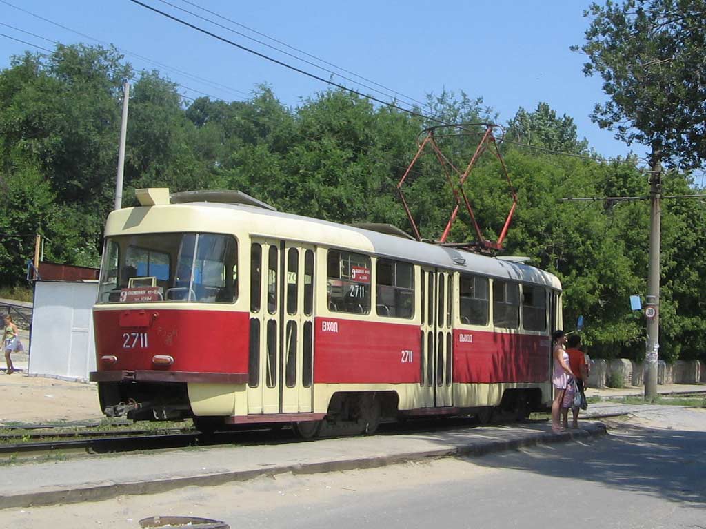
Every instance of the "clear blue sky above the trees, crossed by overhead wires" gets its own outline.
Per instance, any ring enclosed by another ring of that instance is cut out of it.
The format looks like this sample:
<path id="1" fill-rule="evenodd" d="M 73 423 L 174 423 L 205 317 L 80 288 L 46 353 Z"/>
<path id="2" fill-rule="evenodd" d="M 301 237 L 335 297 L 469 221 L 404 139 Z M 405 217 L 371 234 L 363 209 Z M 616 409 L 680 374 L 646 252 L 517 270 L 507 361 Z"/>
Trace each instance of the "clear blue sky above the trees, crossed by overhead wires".
<path id="1" fill-rule="evenodd" d="M 296 105 L 301 98 L 326 87 L 184 28 L 129 0 L 0 0 L 0 33 L 42 47 L 51 49 L 53 44 L 39 37 L 64 44 L 95 42 L 18 11 L 5 1 L 121 50 L 211 82 L 126 55 L 138 69 L 159 69 L 183 85 L 184 95 L 191 97 L 205 92 L 227 100 L 246 99 L 258 83 L 268 83 L 283 103 Z M 325 71 L 193 18 L 160 0 L 142 1 L 234 42 L 330 77 Z M 603 101 L 605 95 L 598 78 L 583 75 L 585 58 L 569 49 L 571 44 L 583 42 L 588 19 L 582 11 L 588 0 L 189 1 L 417 100 L 424 100 L 429 92 L 463 90 L 469 97 L 483 97 L 487 105 L 498 111 L 501 124 L 520 107 L 532 110 L 539 102 L 547 102 L 560 116 L 573 117 L 579 136 L 587 138 L 590 146 L 605 157 L 625 156 L 630 148 L 640 155 L 645 152 L 640 145 L 627 147 L 614 140 L 612 133 L 599 129 L 588 117 L 594 104 Z M 266 41 L 182 0 L 169 2 Z M 266 42 L 286 49 L 282 44 Z M 32 48 L 0 37 L 0 67 L 8 66 L 10 56 L 22 54 L 25 49 Z M 333 80 L 354 87 L 347 80 Z M 360 90 L 372 93 L 366 88 Z"/>

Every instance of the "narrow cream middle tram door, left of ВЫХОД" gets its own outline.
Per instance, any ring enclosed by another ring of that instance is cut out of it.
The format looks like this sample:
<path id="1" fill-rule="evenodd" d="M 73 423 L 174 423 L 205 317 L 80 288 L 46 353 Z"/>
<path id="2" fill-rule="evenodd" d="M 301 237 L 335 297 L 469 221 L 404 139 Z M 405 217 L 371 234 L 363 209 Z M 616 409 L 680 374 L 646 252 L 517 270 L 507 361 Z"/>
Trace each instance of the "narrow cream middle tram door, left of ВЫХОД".
<path id="1" fill-rule="evenodd" d="M 421 269 L 421 385 L 424 406 L 451 406 L 451 274 Z"/>

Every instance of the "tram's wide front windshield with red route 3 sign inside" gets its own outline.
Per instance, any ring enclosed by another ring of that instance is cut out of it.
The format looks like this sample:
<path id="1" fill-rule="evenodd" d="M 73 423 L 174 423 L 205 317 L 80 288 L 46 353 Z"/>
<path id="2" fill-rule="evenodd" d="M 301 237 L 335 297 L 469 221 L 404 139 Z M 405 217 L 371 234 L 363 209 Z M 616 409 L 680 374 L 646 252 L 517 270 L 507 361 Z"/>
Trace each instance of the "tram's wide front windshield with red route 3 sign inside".
<path id="1" fill-rule="evenodd" d="M 98 303 L 233 303 L 237 250 L 217 233 L 107 237 Z"/>

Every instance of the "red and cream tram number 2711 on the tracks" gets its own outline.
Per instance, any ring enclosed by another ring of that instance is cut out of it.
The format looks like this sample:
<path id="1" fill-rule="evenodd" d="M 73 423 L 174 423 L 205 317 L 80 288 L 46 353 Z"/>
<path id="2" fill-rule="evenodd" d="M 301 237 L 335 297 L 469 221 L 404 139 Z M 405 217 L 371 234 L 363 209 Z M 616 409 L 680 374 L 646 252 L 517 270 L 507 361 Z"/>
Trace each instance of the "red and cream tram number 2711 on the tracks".
<path id="1" fill-rule="evenodd" d="M 556 276 L 237 192 L 137 195 L 108 217 L 93 310 L 107 415 L 310 437 L 551 402 Z"/>

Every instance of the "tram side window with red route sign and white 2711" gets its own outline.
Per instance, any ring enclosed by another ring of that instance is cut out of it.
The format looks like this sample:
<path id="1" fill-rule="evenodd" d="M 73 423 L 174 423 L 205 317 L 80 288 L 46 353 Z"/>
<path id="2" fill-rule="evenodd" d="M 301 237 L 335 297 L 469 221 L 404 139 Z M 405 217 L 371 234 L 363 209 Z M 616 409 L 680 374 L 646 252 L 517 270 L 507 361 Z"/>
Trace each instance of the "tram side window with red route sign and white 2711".
<path id="1" fill-rule="evenodd" d="M 370 313 L 370 257 L 359 253 L 329 250 L 326 296 L 328 310 Z"/>

